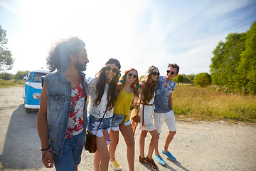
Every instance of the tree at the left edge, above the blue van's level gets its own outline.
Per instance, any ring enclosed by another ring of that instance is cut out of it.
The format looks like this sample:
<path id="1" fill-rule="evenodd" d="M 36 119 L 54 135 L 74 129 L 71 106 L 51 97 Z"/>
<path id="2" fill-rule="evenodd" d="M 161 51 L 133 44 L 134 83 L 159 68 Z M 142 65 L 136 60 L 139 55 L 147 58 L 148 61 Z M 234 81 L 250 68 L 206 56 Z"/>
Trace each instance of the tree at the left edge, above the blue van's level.
<path id="1" fill-rule="evenodd" d="M 11 51 L 4 46 L 7 42 L 6 31 L 0 25 L 0 71 L 10 70 L 14 65 L 14 58 L 11 57 Z"/>

